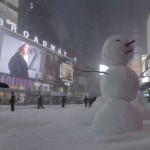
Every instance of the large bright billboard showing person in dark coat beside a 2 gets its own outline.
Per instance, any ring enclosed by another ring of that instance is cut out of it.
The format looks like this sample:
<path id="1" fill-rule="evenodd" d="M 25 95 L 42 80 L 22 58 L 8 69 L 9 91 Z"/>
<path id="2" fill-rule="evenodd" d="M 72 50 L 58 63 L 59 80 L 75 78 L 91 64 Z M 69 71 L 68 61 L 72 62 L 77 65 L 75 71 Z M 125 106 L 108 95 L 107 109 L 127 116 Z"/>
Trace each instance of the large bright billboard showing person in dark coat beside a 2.
<path id="1" fill-rule="evenodd" d="M 0 72 L 43 80 L 46 51 L 2 31 L 0 39 Z"/>

